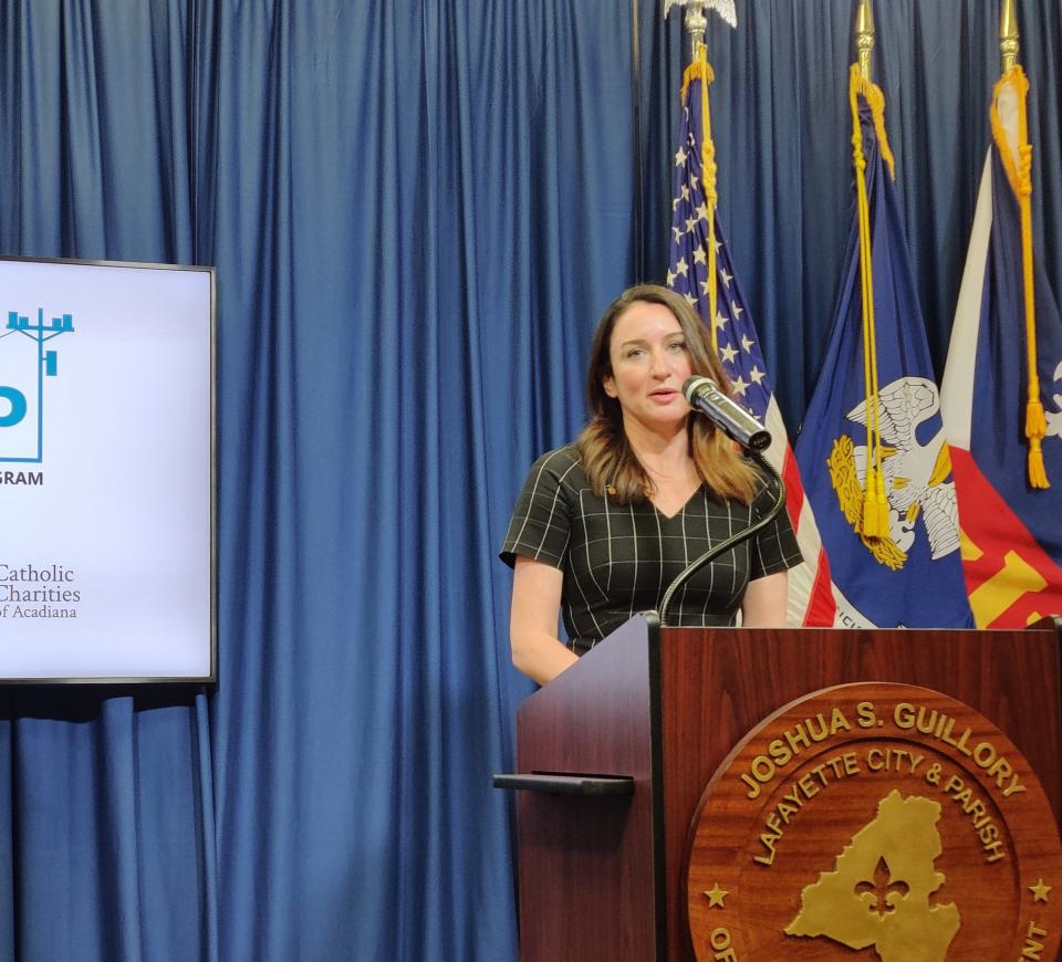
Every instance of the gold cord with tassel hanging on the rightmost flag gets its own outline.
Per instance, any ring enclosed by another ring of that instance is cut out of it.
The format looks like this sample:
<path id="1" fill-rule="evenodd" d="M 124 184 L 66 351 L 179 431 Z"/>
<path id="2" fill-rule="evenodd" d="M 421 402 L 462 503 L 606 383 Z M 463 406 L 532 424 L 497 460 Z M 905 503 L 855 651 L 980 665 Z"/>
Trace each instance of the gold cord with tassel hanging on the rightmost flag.
<path id="1" fill-rule="evenodd" d="M 1018 157 L 1014 158 L 1007 133 L 999 115 L 999 100 L 1006 88 L 1013 91 L 1018 108 Z M 1020 64 L 1011 66 L 996 84 L 992 100 L 992 136 L 1003 159 L 1003 169 L 1011 189 L 1018 198 L 1021 212 L 1021 275 L 1022 292 L 1025 302 L 1024 335 L 1025 363 L 1029 379 L 1025 395 L 1025 439 L 1029 441 L 1027 470 L 1029 484 L 1037 489 L 1051 487 L 1047 466 L 1043 461 L 1042 442 L 1048 433 L 1048 422 L 1043 401 L 1040 399 L 1040 375 L 1037 369 L 1037 294 L 1035 273 L 1032 252 L 1032 145 L 1029 143 L 1029 117 L 1025 98 L 1029 94 L 1029 81 Z"/>

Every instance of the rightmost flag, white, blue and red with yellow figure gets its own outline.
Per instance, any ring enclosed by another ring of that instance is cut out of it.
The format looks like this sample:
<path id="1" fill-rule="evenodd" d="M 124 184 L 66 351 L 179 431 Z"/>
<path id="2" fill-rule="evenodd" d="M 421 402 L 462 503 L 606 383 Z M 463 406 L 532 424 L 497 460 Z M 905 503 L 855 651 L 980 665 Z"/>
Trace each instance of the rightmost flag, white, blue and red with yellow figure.
<path id="1" fill-rule="evenodd" d="M 1032 258 L 1027 91 L 1020 66 L 996 87 L 943 383 L 966 584 L 985 628 L 1062 613 L 1062 320 Z"/>

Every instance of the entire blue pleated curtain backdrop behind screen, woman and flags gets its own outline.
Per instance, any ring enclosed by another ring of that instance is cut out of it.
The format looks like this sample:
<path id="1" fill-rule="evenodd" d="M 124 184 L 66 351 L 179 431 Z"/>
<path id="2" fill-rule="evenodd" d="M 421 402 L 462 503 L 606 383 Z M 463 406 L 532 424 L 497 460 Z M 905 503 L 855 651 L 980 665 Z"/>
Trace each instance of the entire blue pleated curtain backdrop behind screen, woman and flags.
<path id="1" fill-rule="evenodd" d="M 851 7 L 709 32 L 793 424 L 851 222 Z M 1058 289 L 1062 11 L 1020 7 Z M 876 14 L 939 364 L 998 4 Z M 494 551 L 596 316 L 663 274 L 685 45 L 649 0 L 0 0 L 0 253 L 215 263 L 220 295 L 220 682 L 0 692 L 0 958 L 514 958 Z"/>

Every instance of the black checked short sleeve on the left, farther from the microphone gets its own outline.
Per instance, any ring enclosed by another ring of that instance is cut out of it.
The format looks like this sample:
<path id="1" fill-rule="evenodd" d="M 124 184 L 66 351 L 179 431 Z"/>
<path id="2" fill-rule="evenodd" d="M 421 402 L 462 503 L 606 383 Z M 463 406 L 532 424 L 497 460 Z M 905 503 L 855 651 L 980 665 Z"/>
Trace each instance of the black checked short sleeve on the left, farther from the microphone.
<path id="1" fill-rule="evenodd" d="M 577 463 L 569 447 L 550 451 L 531 466 L 499 553 L 507 565 L 512 567 L 519 555 L 556 568 L 564 566 L 571 535 L 568 478 Z"/>

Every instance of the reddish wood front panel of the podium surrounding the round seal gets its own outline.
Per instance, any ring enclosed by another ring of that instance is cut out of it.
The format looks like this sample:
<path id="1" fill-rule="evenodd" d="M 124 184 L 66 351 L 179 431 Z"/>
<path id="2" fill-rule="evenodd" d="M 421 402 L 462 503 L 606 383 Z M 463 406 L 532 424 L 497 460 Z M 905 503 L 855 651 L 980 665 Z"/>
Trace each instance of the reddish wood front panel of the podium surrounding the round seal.
<path id="1" fill-rule="evenodd" d="M 660 635 L 668 945 L 691 960 L 686 845 L 701 793 L 758 722 L 833 684 L 898 681 L 977 710 L 1022 751 L 1060 811 L 1059 648 L 1054 631 L 667 628 Z"/>

